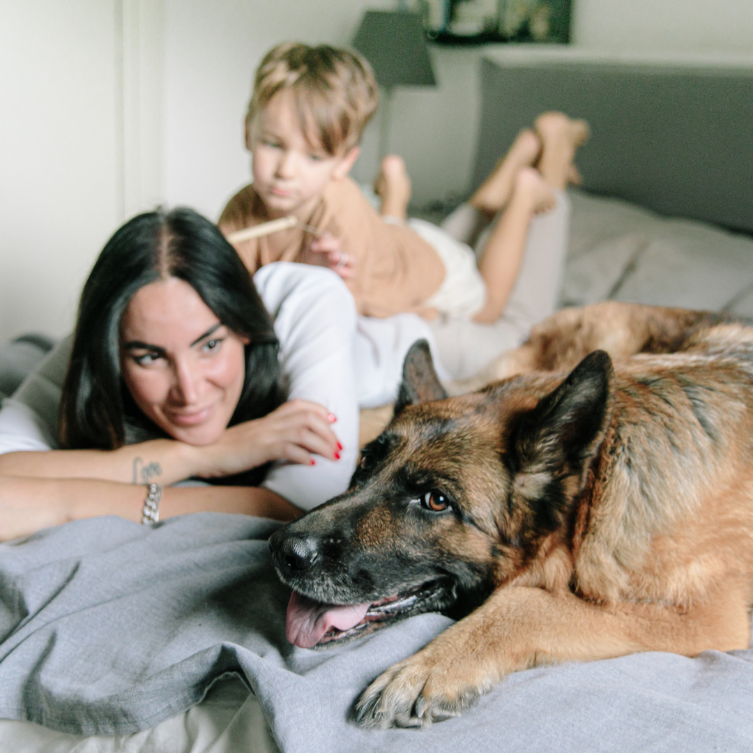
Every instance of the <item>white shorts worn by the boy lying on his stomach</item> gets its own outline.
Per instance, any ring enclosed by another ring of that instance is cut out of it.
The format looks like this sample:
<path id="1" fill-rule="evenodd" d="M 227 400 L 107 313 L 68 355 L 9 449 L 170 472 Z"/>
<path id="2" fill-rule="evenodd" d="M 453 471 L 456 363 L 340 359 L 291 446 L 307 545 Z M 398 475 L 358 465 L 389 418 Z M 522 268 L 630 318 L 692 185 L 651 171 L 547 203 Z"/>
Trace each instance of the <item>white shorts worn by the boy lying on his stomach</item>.
<path id="1" fill-rule="evenodd" d="M 425 220 L 409 219 L 407 225 L 434 248 L 444 264 L 444 280 L 425 305 L 447 316 L 473 319 L 486 303 L 486 284 L 471 246 Z"/>

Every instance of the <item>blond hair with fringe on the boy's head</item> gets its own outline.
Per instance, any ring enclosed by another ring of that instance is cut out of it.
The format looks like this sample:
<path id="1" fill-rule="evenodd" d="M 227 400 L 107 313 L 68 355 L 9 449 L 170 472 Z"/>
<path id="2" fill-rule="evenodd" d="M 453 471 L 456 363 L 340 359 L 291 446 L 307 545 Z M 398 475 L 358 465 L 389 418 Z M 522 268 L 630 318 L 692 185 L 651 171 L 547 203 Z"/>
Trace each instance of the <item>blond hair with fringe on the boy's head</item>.
<path id="1" fill-rule="evenodd" d="M 357 52 L 283 42 L 264 56 L 256 71 L 245 117 L 252 139 L 258 115 L 285 90 L 294 97 L 300 130 L 331 155 L 358 145 L 377 109 L 377 81 Z"/>

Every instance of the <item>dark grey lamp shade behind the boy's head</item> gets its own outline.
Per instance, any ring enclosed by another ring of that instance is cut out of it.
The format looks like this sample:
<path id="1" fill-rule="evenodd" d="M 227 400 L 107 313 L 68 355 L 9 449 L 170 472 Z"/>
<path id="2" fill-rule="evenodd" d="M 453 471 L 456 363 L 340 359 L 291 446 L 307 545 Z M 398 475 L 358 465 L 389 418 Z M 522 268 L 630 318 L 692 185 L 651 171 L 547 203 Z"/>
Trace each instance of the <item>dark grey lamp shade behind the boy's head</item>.
<path id="1" fill-rule="evenodd" d="M 353 47 L 382 87 L 435 87 L 421 20 L 405 11 L 366 11 Z"/>

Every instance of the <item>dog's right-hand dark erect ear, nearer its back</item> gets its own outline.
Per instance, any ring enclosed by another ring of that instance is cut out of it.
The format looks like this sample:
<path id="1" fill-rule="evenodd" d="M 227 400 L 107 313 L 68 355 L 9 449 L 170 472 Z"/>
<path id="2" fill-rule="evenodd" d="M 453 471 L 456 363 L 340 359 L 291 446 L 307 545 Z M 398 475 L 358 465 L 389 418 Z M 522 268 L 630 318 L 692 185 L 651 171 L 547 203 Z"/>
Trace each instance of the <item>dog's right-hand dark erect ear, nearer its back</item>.
<path id="1" fill-rule="evenodd" d="M 613 380 L 611 359 L 595 350 L 524 416 L 515 440 L 520 471 L 577 476 L 582 486 L 611 417 Z"/>

